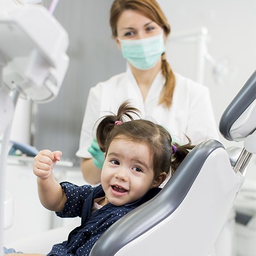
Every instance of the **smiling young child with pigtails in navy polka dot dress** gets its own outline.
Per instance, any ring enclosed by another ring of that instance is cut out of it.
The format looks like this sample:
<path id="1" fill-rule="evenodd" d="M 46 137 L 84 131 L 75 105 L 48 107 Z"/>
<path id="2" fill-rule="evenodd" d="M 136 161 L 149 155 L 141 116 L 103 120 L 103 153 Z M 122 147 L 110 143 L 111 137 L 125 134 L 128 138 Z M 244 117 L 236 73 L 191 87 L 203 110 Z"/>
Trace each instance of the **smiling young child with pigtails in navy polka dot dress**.
<path id="1" fill-rule="evenodd" d="M 126 101 L 117 115 L 99 123 L 96 137 L 105 161 L 97 187 L 58 184 L 53 168 L 61 159 L 60 151 L 42 150 L 35 157 L 33 172 L 42 205 L 60 217 L 82 218 L 80 227 L 71 231 L 67 241 L 54 245 L 48 255 L 89 255 L 110 225 L 159 193 L 169 171 L 173 173 L 193 148 L 191 144 L 174 145 L 164 127 L 134 120 L 134 115 L 138 116 L 138 110 Z"/>

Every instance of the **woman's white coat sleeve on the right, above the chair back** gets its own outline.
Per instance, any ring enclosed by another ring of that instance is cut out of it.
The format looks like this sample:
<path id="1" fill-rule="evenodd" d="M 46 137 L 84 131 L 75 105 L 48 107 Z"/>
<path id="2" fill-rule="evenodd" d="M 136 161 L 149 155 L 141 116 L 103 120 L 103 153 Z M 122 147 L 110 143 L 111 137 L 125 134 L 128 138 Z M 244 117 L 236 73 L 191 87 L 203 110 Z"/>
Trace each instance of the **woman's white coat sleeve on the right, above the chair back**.
<path id="1" fill-rule="evenodd" d="M 220 139 L 207 87 L 200 86 L 198 89 L 193 89 L 188 118 L 186 135 L 189 136 L 192 144 L 197 145 L 208 139 Z"/>

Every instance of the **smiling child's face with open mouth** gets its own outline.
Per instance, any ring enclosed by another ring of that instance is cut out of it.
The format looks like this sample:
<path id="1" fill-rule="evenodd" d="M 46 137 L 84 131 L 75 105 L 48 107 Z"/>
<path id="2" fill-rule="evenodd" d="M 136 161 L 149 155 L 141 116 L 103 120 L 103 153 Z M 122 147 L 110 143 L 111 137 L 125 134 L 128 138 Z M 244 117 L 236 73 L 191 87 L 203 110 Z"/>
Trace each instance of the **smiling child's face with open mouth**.
<path id="1" fill-rule="evenodd" d="M 159 186 L 154 179 L 151 159 L 145 144 L 114 139 L 101 171 L 107 201 L 116 206 L 135 202 L 151 187 Z"/>

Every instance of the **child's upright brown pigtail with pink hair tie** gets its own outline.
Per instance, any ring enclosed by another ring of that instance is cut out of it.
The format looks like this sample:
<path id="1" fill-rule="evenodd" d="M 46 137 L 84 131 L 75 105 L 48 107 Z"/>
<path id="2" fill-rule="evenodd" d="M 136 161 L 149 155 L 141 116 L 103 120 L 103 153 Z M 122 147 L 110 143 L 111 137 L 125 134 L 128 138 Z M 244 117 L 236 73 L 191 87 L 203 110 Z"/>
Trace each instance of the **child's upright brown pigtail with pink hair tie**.
<path id="1" fill-rule="evenodd" d="M 106 151 L 106 140 L 108 139 L 108 136 L 112 130 L 117 128 L 118 125 L 122 124 L 123 122 L 134 120 L 133 116 L 139 117 L 139 110 L 133 108 L 129 101 L 124 101 L 118 108 L 117 115 L 112 113 L 112 115 L 102 118 L 96 131 L 96 139 L 101 151 Z"/>

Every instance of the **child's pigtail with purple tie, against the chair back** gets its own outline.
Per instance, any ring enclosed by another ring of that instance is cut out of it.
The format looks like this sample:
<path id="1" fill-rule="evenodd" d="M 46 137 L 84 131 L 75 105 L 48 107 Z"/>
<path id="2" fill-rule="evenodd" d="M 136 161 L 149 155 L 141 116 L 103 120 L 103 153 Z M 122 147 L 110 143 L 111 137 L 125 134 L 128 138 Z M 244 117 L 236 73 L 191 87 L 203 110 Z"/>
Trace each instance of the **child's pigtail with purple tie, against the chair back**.
<path id="1" fill-rule="evenodd" d="M 184 160 L 186 155 L 195 147 L 194 145 L 191 144 L 191 140 L 189 138 L 187 139 L 189 140 L 189 143 L 182 146 L 179 146 L 178 144 L 173 143 L 173 146 L 172 146 L 173 153 L 171 157 L 172 161 L 170 163 L 170 170 L 172 175 L 176 171 L 178 166 L 181 164 L 181 162 Z"/>

